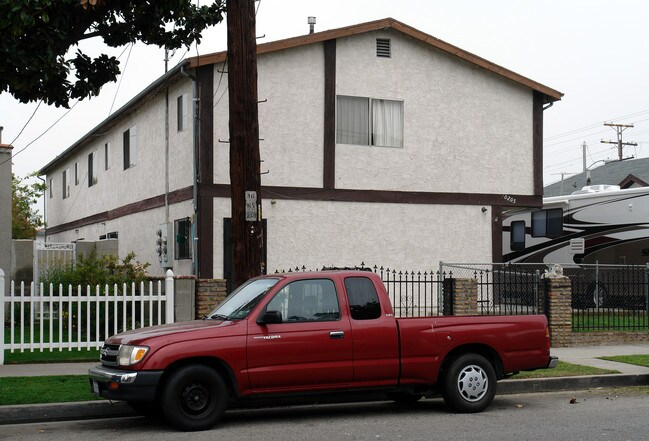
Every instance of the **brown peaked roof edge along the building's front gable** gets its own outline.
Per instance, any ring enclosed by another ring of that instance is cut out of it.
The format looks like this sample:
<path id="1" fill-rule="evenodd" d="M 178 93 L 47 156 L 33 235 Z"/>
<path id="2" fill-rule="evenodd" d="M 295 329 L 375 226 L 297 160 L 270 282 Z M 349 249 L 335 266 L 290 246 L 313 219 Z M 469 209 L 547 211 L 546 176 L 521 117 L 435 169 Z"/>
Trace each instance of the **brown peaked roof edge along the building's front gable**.
<path id="1" fill-rule="evenodd" d="M 412 26 L 408 26 L 407 24 L 402 23 L 393 18 L 384 18 L 381 20 L 370 21 L 367 23 L 361 23 L 352 26 L 346 26 L 343 28 L 316 32 L 313 34 L 301 35 L 298 37 L 272 41 L 269 43 L 262 43 L 257 45 L 257 54 L 259 55 L 259 54 L 276 52 L 276 51 L 290 49 L 299 46 L 306 46 L 309 44 L 320 43 L 323 41 L 334 40 L 342 37 L 349 37 L 352 35 L 363 34 L 363 33 L 377 31 L 381 29 L 394 29 L 416 40 L 419 40 L 431 47 L 437 48 L 448 54 L 455 55 L 456 57 L 461 58 L 469 63 L 484 68 L 502 77 L 508 78 L 516 83 L 529 87 L 532 90 L 538 91 L 541 94 L 543 94 L 544 104 L 552 103 L 554 101 L 559 101 L 561 100 L 561 97 L 563 97 L 563 93 L 555 89 L 552 89 L 548 86 L 545 86 L 541 83 L 538 83 L 534 80 L 524 77 L 523 75 L 517 74 L 514 71 L 499 66 L 495 63 L 492 63 L 482 57 L 472 54 L 471 52 L 467 52 L 463 49 L 460 49 L 457 46 L 453 46 L 450 43 L 440 40 L 439 38 L 433 37 L 432 35 L 426 34 L 425 32 L 415 29 Z M 226 58 L 227 58 L 227 51 L 215 52 L 212 54 L 191 57 L 189 58 L 189 67 L 194 68 L 194 67 L 205 66 L 214 63 L 222 63 L 226 60 Z"/>

